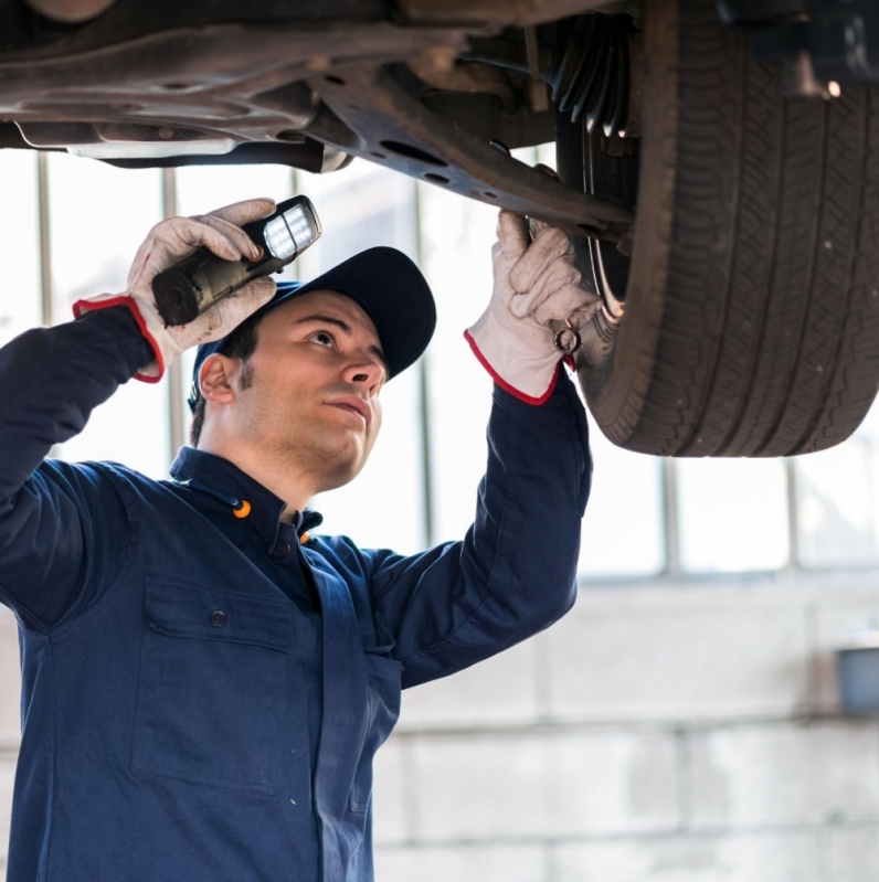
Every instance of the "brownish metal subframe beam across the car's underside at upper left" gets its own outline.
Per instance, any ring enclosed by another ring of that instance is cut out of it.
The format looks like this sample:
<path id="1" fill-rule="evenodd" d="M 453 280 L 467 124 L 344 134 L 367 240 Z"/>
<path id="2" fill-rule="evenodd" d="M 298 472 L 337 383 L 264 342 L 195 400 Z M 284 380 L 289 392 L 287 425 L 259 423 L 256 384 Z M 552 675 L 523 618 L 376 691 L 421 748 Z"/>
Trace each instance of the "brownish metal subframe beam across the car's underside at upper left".
<path id="1" fill-rule="evenodd" d="M 215 24 L 75 51 L 53 44 L 0 55 L 0 117 L 201 128 L 239 141 L 274 140 L 304 128 L 314 115 L 290 89 L 316 71 L 465 45 L 462 29 L 390 22 Z"/>

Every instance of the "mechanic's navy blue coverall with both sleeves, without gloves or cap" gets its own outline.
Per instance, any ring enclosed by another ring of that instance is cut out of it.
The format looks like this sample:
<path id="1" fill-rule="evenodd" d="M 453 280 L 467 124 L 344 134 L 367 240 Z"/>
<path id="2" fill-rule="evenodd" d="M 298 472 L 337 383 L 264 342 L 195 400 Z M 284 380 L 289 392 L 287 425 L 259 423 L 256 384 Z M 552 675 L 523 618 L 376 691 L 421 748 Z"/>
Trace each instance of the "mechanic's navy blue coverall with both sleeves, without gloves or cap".
<path id="1" fill-rule="evenodd" d="M 19 621 L 9 882 L 369 882 L 372 758 L 401 687 L 574 601 L 591 461 L 566 376 L 498 389 L 476 520 L 401 556 L 183 448 L 174 481 L 44 459 L 151 359 L 130 314 L 0 350 L 0 601 Z M 251 503 L 247 518 L 230 499 Z"/>

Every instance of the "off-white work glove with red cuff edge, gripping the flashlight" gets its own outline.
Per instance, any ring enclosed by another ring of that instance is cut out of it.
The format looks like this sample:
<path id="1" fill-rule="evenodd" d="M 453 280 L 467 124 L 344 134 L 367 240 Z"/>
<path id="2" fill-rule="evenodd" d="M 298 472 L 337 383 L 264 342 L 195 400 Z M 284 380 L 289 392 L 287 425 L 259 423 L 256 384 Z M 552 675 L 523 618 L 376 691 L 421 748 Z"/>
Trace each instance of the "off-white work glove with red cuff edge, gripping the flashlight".
<path id="1" fill-rule="evenodd" d="M 127 306 L 156 355 L 135 376 L 146 383 L 157 383 L 181 352 L 199 343 L 220 340 L 268 302 L 275 294 L 275 281 L 265 276 L 254 279 L 187 325 L 166 327 L 156 306 L 152 279 L 202 245 L 225 261 L 240 261 L 242 257 L 255 261 L 260 247 L 251 242 L 241 226 L 267 217 L 274 211 L 275 203 L 271 199 L 250 199 L 210 214 L 170 217 L 156 224 L 135 255 L 128 272 L 127 289 L 123 294 L 102 294 L 78 300 L 73 305 L 74 316 L 80 318 L 96 309 Z"/>

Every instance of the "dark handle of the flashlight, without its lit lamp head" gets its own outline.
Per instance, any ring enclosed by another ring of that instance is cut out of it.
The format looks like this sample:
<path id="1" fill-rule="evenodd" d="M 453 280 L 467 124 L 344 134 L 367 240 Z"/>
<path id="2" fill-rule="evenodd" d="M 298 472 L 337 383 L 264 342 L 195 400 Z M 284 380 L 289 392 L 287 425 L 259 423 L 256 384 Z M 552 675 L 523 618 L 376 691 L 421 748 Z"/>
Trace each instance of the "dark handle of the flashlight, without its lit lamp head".
<path id="1" fill-rule="evenodd" d="M 152 279 L 152 294 L 166 326 L 188 325 L 218 300 L 284 265 L 271 256 L 255 263 L 224 261 L 208 248 L 199 248 L 159 273 Z"/>

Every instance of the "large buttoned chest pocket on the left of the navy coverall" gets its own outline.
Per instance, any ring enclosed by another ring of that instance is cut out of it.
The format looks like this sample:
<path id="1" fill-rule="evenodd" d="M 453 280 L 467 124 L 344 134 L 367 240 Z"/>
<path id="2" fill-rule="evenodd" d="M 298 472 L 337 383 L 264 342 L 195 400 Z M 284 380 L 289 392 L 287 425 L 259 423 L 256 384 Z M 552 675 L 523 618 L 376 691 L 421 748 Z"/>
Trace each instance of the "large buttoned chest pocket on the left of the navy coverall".
<path id="1" fill-rule="evenodd" d="M 131 769 L 273 796 L 289 607 L 151 578 Z"/>

